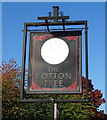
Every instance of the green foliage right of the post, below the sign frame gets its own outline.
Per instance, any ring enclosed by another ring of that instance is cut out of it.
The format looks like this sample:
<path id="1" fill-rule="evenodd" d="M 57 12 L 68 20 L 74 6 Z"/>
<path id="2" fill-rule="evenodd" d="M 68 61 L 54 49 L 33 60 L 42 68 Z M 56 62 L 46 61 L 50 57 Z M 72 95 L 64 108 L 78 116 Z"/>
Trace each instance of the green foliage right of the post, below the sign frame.
<path id="1" fill-rule="evenodd" d="M 90 118 L 90 111 L 82 103 L 63 103 L 61 106 L 62 119 L 89 120 Z"/>

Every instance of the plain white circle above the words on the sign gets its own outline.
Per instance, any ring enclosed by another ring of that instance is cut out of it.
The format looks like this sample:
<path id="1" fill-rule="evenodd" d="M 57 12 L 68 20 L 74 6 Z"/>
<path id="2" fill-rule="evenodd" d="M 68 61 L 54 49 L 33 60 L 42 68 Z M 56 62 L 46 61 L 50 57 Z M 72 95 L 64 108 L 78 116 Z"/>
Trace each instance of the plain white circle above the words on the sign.
<path id="1" fill-rule="evenodd" d="M 43 60 L 49 64 L 62 63 L 69 54 L 67 43 L 59 38 L 51 38 L 47 40 L 41 48 L 41 56 Z"/>

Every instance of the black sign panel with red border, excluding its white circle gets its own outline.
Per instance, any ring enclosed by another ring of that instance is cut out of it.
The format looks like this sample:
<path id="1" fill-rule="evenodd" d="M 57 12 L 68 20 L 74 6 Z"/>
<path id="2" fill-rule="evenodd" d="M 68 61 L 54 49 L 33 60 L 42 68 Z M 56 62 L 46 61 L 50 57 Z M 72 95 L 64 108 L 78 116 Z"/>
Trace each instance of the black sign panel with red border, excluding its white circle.
<path id="1" fill-rule="evenodd" d="M 81 31 L 30 34 L 29 93 L 81 93 L 81 35 Z M 68 45 L 69 54 L 62 63 L 49 64 L 41 56 L 43 44 L 51 38 L 59 38 Z"/>

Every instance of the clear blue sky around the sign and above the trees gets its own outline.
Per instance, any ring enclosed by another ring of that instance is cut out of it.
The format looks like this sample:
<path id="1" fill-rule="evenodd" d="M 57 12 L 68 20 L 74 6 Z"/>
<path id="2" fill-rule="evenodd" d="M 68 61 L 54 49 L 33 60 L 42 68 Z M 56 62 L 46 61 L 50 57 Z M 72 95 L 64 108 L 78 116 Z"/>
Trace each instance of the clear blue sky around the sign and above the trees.
<path id="1" fill-rule="evenodd" d="M 37 17 L 52 11 L 52 6 L 59 6 L 71 21 L 88 20 L 89 79 L 105 98 L 104 2 L 3 2 L 2 60 L 14 58 L 21 66 L 24 22 L 37 22 Z M 100 109 L 105 110 L 105 104 Z"/>

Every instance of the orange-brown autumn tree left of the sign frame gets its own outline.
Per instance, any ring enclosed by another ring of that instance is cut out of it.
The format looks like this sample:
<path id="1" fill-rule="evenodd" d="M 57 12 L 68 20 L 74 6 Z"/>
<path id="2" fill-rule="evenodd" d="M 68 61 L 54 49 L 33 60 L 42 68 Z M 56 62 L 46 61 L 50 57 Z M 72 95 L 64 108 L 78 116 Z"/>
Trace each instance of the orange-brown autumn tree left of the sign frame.
<path id="1" fill-rule="evenodd" d="M 21 68 L 14 59 L 11 59 L 8 62 L 2 62 L 1 70 L 3 118 L 14 119 L 18 117 L 17 112 L 22 110 L 19 107 Z"/>

